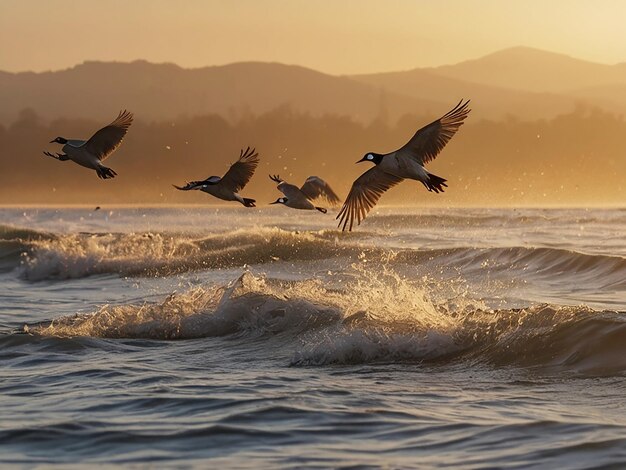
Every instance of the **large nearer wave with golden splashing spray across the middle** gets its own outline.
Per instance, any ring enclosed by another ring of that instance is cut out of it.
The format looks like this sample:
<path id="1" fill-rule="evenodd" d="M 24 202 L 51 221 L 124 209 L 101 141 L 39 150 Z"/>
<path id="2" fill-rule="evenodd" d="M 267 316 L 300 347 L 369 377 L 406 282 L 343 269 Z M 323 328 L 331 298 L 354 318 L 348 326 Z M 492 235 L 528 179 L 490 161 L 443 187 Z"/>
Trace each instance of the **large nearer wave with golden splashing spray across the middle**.
<path id="1" fill-rule="evenodd" d="M 495 366 L 626 372 L 626 313 L 537 305 L 490 310 L 479 301 L 435 302 L 420 284 L 355 267 L 343 287 L 244 273 L 160 303 L 104 306 L 27 325 L 38 336 L 190 339 L 280 338 L 292 366 L 470 361 Z"/>

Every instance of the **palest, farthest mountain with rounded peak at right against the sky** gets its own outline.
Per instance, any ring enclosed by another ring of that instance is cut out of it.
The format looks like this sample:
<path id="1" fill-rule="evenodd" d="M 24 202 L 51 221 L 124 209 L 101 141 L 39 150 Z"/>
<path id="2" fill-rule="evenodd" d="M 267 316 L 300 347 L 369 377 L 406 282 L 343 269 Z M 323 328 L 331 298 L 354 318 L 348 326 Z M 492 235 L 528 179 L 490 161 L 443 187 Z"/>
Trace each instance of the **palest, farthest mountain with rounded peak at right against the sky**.
<path id="1" fill-rule="evenodd" d="M 549 93 L 626 83 L 626 64 L 597 64 L 530 47 L 504 49 L 428 70 L 442 77 L 483 85 Z"/>

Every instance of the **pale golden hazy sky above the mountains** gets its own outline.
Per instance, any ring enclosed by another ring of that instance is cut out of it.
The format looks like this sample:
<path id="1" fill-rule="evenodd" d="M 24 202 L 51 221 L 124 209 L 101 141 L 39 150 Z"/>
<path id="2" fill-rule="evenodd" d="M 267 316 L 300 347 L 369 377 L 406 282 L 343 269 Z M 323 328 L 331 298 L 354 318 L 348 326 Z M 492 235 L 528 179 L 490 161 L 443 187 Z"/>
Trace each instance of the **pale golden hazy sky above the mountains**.
<path id="1" fill-rule="evenodd" d="M 245 60 L 343 74 L 525 45 L 626 61 L 621 0 L 0 0 L 0 70 Z"/>

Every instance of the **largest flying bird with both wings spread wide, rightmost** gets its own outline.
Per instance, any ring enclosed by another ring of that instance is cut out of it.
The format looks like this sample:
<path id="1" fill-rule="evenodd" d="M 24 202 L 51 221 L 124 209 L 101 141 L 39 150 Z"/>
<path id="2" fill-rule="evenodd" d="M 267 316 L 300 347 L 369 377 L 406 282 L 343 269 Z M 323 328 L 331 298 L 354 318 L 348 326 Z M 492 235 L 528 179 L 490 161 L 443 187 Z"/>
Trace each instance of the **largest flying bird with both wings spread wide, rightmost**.
<path id="1" fill-rule="evenodd" d="M 439 119 L 419 129 L 401 148 L 387 154 L 368 152 L 357 163 L 371 162 L 374 167 L 359 176 L 350 189 L 337 219 L 342 231 L 360 225 L 367 213 L 389 188 L 405 179 L 420 181 L 428 191 L 440 193 L 448 187 L 444 178 L 424 165 L 434 160 L 463 125 L 471 109 L 469 100 L 459 103 Z"/>

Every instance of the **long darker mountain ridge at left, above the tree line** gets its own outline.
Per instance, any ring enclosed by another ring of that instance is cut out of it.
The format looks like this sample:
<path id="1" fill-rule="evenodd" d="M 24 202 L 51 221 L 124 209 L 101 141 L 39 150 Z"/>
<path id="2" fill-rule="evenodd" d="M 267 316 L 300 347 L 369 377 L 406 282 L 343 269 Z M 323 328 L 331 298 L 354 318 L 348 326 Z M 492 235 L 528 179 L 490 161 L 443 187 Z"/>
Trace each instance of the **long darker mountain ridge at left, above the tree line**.
<path id="1" fill-rule="evenodd" d="M 47 119 L 105 120 L 118 108 L 131 109 L 144 120 L 206 114 L 237 117 L 283 105 L 361 121 L 371 121 L 381 112 L 381 94 L 375 87 L 304 67 L 260 62 L 199 69 L 145 61 L 85 62 L 57 72 L 2 72 L 0 102 L 0 122 L 5 123 L 24 108 Z M 384 107 L 395 118 L 442 106 L 392 92 L 385 94 Z"/>

